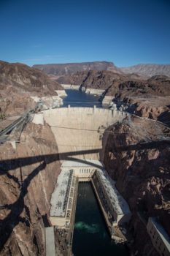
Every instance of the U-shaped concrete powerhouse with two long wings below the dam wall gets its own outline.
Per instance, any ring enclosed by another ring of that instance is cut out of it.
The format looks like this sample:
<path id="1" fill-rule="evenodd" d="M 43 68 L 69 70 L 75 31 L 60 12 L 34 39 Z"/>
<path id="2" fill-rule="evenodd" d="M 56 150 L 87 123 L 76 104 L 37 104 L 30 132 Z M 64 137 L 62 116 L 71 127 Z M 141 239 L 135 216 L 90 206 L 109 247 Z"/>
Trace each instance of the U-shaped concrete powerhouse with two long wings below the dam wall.
<path id="1" fill-rule="evenodd" d="M 74 222 L 78 187 L 76 181 L 92 182 L 111 235 L 114 227 L 129 222 L 131 211 L 128 204 L 117 191 L 115 181 L 109 177 L 101 162 L 77 159 L 61 165 L 61 173 L 50 201 L 52 225 L 69 228 Z"/>

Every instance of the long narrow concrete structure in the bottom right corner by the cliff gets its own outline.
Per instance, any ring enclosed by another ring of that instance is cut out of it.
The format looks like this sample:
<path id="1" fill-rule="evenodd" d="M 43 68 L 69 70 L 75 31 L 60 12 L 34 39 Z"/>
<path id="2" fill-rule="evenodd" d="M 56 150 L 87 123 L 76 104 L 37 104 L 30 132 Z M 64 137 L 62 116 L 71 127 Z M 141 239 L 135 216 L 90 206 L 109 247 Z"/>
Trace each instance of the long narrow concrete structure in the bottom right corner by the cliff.
<path id="1" fill-rule="evenodd" d="M 147 232 L 159 255 L 170 255 L 170 239 L 156 217 L 150 217 L 147 222 Z"/>

